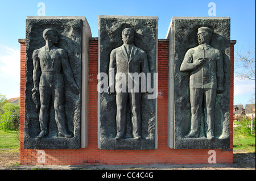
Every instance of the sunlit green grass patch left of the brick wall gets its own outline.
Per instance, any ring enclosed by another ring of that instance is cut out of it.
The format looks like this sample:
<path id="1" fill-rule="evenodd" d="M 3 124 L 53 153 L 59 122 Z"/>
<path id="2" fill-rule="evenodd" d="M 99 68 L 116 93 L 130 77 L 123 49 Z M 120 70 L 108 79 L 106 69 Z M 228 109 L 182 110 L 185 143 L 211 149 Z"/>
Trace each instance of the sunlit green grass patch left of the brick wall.
<path id="1" fill-rule="evenodd" d="M 0 149 L 19 149 L 18 131 L 0 130 Z"/>

